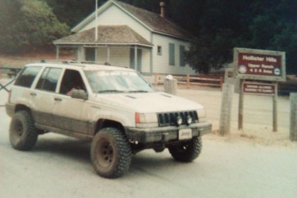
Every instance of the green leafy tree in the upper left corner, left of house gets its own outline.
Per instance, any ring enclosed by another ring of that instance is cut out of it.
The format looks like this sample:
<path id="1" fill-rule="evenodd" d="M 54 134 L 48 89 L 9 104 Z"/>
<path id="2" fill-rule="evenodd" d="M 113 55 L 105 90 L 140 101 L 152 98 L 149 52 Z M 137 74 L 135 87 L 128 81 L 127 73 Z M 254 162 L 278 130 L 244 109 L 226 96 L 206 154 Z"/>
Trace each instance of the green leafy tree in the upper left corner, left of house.
<path id="1" fill-rule="evenodd" d="M 1 0 L 0 18 L 2 52 L 47 49 L 54 39 L 70 33 L 44 1 Z"/>

